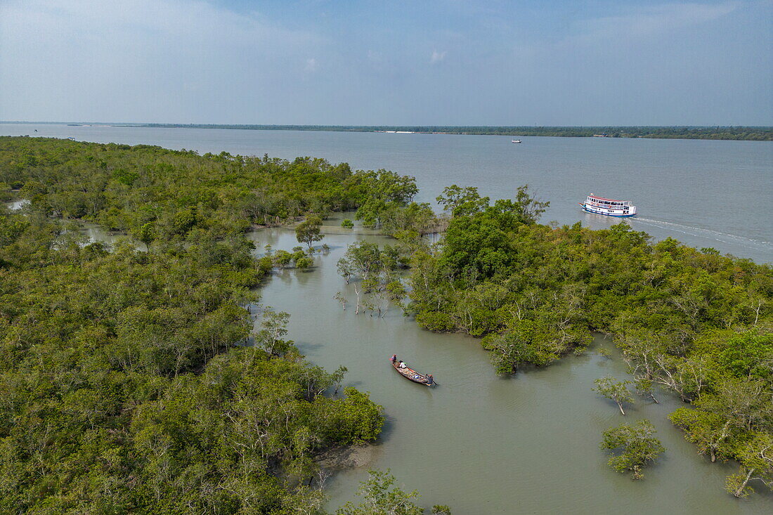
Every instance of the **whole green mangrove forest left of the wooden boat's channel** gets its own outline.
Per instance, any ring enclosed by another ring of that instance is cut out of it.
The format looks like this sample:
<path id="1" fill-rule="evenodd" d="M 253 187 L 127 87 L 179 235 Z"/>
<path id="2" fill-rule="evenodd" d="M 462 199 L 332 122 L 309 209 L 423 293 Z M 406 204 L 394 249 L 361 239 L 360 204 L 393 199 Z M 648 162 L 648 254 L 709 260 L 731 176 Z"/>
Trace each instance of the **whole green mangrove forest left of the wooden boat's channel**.
<path id="1" fill-rule="evenodd" d="M 0 174 L 29 200 L 0 206 L 0 512 L 318 513 L 315 454 L 372 441 L 381 409 L 325 396 L 344 369 L 306 363 L 288 315 L 250 336 L 250 288 L 308 257 L 258 260 L 240 230 L 356 206 L 357 174 L 29 138 L 0 139 Z"/>

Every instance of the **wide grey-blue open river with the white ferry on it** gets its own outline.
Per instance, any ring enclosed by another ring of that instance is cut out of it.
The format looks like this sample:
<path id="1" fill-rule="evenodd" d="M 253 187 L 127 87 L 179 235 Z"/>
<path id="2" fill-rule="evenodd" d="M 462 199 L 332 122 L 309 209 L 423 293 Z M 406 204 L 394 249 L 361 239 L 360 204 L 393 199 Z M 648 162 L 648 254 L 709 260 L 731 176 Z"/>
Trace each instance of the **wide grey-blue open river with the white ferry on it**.
<path id="1" fill-rule="evenodd" d="M 37 132 L 35 132 L 37 131 Z M 543 221 L 581 221 L 593 228 L 619 220 L 580 210 L 588 193 L 632 200 L 628 220 L 653 237 L 773 261 L 773 142 L 646 138 L 381 134 L 251 131 L 62 124 L 0 124 L 0 135 L 76 138 L 87 142 L 161 145 L 294 159 L 312 155 L 354 169 L 415 176 L 417 200 L 432 202 L 444 186 L 477 186 L 492 198 L 530 184 L 550 201 Z"/>

